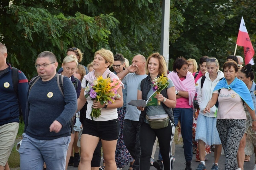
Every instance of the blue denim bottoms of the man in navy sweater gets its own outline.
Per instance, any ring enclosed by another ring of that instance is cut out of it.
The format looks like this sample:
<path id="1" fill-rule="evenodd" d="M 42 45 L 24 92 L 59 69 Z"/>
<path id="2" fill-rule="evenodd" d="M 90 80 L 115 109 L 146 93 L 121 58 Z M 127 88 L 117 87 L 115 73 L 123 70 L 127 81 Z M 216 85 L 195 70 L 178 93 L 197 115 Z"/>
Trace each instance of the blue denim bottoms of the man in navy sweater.
<path id="1" fill-rule="evenodd" d="M 19 148 L 20 170 L 65 170 L 70 136 L 52 140 L 38 140 L 24 133 Z"/>

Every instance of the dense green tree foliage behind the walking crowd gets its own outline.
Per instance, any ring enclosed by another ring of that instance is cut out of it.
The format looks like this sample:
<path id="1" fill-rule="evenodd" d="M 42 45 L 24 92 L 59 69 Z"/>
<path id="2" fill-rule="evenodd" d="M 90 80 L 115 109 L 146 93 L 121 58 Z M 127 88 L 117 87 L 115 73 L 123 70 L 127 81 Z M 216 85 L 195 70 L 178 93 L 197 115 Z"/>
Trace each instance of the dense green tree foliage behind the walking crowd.
<path id="1" fill-rule="evenodd" d="M 176 57 L 233 54 L 241 17 L 254 45 L 256 2 L 252 0 L 173 0 L 170 5 L 169 69 Z M 8 62 L 28 78 L 35 58 L 52 51 L 59 63 L 69 47 L 84 53 L 82 64 L 106 48 L 131 59 L 160 51 L 160 0 L 1 0 L 0 41 Z M 237 55 L 243 56 L 239 47 Z"/>

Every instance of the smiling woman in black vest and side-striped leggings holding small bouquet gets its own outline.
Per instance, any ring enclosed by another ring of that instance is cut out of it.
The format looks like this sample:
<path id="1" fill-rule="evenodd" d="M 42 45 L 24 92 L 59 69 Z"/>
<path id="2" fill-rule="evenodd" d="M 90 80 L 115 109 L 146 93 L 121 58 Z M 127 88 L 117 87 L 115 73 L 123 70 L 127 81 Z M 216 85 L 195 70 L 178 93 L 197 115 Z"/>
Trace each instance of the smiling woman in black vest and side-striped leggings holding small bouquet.
<path id="1" fill-rule="evenodd" d="M 171 147 L 175 130 L 172 108 L 176 105 L 175 88 L 172 81 L 166 77 L 167 68 L 163 56 L 159 53 L 152 54 L 148 57 L 146 66 L 148 76 L 138 85 L 138 99 L 147 100 L 157 90 L 155 98 L 160 105 L 137 107 L 142 111 L 140 115 L 140 170 L 150 169 L 150 158 L 156 137 L 159 141 L 164 168 L 172 170 Z M 156 129 L 148 121 L 154 116 L 165 117 L 167 124 Z"/>

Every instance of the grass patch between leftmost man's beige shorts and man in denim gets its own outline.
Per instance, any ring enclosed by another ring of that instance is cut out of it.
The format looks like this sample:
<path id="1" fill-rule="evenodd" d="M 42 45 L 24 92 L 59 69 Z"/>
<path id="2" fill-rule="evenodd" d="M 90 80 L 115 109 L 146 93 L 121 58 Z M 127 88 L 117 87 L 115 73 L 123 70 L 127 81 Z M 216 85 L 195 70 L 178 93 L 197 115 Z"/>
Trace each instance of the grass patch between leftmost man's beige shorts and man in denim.
<path id="1" fill-rule="evenodd" d="M 10 168 L 16 168 L 19 167 L 19 153 L 16 151 L 16 145 L 17 143 L 22 139 L 22 134 L 24 131 L 25 124 L 24 122 L 19 123 L 19 130 L 18 134 L 16 136 L 16 140 L 12 149 L 12 153 L 8 159 L 8 164 Z"/>

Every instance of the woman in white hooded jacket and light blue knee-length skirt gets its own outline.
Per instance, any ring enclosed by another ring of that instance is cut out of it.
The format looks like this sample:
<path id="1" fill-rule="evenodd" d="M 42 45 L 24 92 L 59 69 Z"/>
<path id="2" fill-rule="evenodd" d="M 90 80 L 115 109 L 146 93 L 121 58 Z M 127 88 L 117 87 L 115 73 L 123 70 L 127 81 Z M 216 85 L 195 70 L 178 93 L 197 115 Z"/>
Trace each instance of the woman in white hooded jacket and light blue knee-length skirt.
<path id="1" fill-rule="evenodd" d="M 199 80 L 199 90 L 197 101 L 199 104 L 199 115 L 197 118 L 197 131 L 195 141 L 198 142 L 200 164 L 196 170 L 205 169 L 205 144 L 215 145 L 214 163 L 211 170 L 218 170 L 218 160 L 221 156 L 221 139 L 216 128 L 216 106 L 211 108 L 211 112 L 203 114 L 203 109 L 212 97 L 212 92 L 216 84 L 223 79 L 224 74 L 219 70 L 219 63 L 216 58 L 206 59 L 207 73 Z"/>

